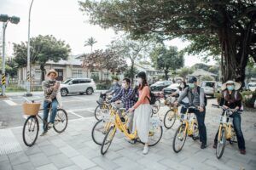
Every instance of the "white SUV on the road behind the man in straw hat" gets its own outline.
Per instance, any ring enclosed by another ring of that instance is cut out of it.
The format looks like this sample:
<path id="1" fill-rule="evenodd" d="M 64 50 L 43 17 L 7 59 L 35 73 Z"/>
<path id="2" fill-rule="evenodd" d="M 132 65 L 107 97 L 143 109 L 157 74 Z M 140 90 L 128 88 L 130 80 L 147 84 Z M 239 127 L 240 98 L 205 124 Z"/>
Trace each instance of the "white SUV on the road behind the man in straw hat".
<path id="1" fill-rule="evenodd" d="M 88 94 L 96 91 L 96 83 L 90 78 L 70 78 L 61 83 L 61 96 L 67 94 Z"/>

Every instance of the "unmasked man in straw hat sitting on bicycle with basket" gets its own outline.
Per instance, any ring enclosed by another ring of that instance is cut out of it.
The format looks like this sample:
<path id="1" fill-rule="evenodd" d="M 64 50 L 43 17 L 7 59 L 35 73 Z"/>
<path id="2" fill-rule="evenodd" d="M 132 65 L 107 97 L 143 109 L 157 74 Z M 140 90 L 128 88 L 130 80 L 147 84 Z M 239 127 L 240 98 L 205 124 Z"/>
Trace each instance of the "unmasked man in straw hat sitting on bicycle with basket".
<path id="1" fill-rule="evenodd" d="M 49 80 L 46 80 L 43 82 L 42 87 L 44 90 L 44 121 L 48 121 L 48 114 L 49 114 L 49 107 L 51 105 L 51 116 L 49 117 L 49 123 L 47 127 L 53 127 L 53 123 L 55 122 L 55 116 L 57 113 L 57 107 L 58 107 L 58 100 L 57 100 L 57 94 L 60 88 L 60 82 L 57 82 L 55 80 L 56 77 L 58 77 L 58 73 L 51 69 L 47 73 L 47 77 Z M 45 133 L 47 133 L 47 127 L 45 126 L 45 123 L 43 124 L 44 132 L 41 134 L 43 136 Z"/>

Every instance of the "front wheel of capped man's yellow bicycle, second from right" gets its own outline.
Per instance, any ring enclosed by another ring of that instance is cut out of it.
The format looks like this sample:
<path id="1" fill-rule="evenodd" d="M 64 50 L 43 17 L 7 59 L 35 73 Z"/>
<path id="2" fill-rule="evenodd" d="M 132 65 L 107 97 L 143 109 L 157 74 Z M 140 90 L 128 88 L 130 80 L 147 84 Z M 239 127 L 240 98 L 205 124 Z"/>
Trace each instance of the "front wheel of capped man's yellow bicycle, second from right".
<path id="1" fill-rule="evenodd" d="M 187 129 L 185 124 L 181 124 L 174 135 L 172 141 L 172 149 L 174 152 L 178 153 L 180 150 L 183 149 L 183 145 L 187 139 Z"/>

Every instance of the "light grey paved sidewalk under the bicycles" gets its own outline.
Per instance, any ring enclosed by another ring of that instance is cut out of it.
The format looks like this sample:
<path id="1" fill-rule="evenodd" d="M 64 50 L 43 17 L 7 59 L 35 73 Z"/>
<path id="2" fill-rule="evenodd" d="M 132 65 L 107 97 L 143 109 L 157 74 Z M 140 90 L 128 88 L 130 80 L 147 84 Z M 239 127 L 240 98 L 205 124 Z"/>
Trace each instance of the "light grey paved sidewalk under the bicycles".
<path id="1" fill-rule="evenodd" d="M 14 135 L 12 142 L 20 145 L 20 151 L 3 154 L 0 145 L 0 170 L 77 170 L 77 169 L 221 169 L 221 170 L 254 170 L 256 169 L 256 127 L 255 114 L 244 112 L 242 130 L 246 139 L 247 155 L 242 156 L 237 144 L 227 144 L 224 156 L 218 160 L 212 142 L 218 127 L 218 109 L 207 108 L 208 147 L 200 149 L 200 143 L 188 138 L 183 150 L 176 154 L 172 150 L 172 138 L 178 126 L 170 130 L 164 128 L 159 144 L 149 149 L 144 156 L 143 144 L 129 144 L 122 133 L 116 133 L 107 154 L 102 156 L 100 146 L 90 136 L 96 122 L 94 117 L 81 118 L 68 122 L 67 130 L 57 134 L 54 130 L 44 136 L 38 136 L 37 143 L 26 147 L 22 141 L 22 127 L 2 129 Z M 161 108 L 161 113 L 166 107 Z M 41 127 L 40 127 L 41 128 Z M 39 132 L 41 133 L 41 132 Z M 1 144 L 1 138 L 0 138 Z M 2 148 L 3 150 L 3 148 Z"/>

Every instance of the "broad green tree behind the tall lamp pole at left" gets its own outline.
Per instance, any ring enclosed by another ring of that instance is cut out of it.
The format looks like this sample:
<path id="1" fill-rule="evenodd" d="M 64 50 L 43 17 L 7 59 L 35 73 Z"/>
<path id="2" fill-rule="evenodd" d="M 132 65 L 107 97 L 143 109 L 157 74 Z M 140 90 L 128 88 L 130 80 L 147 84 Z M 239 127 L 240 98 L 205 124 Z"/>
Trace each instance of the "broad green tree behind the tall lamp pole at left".
<path id="1" fill-rule="evenodd" d="M 40 65 L 41 81 L 44 81 L 45 63 L 49 60 L 58 62 L 61 59 L 67 59 L 71 49 L 64 41 L 57 40 L 53 36 L 32 37 L 31 45 L 31 64 Z M 26 58 L 27 45 L 26 42 L 14 43 L 15 62 L 19 67 L 25 67 L 27 63 Z"/>

